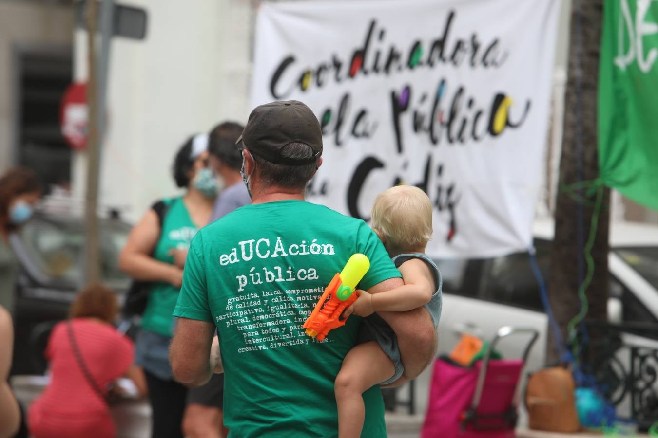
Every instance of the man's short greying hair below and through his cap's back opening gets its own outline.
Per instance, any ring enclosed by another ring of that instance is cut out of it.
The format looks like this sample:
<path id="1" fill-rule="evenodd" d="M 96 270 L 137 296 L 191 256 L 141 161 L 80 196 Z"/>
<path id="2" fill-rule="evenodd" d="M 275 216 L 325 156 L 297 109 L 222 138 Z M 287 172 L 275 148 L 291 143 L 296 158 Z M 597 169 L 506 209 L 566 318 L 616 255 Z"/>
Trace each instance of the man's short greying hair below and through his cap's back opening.
<path id="1" fill-rule="evenodd" d="M 318 168 L 317 161 L 303 165 L 274 164 L 256 154 L 251 156 L 256 162 L 259 179 L 268 186 L 305 188 Z M 311 158 L 313 149 L 308 144 L 293 142 L 281 149 L 281 156 L 282 158 Z"/>

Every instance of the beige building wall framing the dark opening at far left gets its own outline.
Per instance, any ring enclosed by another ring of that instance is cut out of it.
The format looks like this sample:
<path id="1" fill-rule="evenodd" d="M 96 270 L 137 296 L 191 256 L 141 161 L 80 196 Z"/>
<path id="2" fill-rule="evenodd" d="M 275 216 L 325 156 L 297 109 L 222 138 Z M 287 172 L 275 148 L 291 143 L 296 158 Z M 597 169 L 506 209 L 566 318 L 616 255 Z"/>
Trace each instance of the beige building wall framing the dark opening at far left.
<path id="1" fill-rule="evenodd" d="M 0 1 L 0 173 L 14 164 L 14 49 L 71 45 L 73 8 Z"/>

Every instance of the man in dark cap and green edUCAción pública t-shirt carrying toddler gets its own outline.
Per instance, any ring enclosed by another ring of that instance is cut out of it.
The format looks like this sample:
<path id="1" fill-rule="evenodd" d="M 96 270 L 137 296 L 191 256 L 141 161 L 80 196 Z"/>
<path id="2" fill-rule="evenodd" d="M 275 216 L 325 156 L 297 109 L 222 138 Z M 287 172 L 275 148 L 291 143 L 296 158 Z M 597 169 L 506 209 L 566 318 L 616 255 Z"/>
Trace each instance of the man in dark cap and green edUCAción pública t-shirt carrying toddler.
<path id="1" fill-rule="evenodd" d="M 363 221 L 305 202 L 305 187 L 322 164 L 320 125 L 305 104 L 257 107 L 240 141 L 252 203 L 201 229 L 191 242 L 174 311 L 180 319 L 172 370 L 188 385 L 207 382 L 219 361 L 211 348 L 216 327 L 230 435 L 333 437 L 334 380 L 361 320 L 350 317 L 324 342 L 306 336 L 302 324 L 353 253 L 370 259 L 363 290 L 401 286 L 400 274 Z M 380 316 L 397 334 L 403 379 L 414 378 L 434 355 L 429 313 L 421 308 Z M 373 387 L 363 399 L 363 436 L 385 437 L 380 391 Z"/>

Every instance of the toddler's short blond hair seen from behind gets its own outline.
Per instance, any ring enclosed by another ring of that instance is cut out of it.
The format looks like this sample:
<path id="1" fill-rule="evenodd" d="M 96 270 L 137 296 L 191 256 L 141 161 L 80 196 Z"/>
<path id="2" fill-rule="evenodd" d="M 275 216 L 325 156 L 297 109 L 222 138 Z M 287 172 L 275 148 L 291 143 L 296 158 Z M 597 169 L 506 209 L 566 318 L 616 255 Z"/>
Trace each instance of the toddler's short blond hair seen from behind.
<path id="1" fill-rule="evenodd" d="M 418 248 L 432 238 L 432 202 L 415 186 L 395 186 L 372 204 L 372 228 L 395 248 Z"/>

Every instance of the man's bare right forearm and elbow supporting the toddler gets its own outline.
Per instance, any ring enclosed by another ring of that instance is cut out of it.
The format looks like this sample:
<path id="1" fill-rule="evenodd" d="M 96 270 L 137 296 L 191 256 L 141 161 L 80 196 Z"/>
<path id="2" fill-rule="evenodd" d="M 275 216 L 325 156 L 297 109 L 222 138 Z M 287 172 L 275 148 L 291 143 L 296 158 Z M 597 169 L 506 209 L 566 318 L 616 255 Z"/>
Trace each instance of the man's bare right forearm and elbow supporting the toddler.
<path id="1" fill-rule="evenodd" d="M 389 278 L 368 289 L 369 294 L 378 294 L 403 286 L 401 278 Z M 436 330 L 430 313 L 424 307 L 407 312 L 378 312 L 391 326 L 405 366 L 404 377 L 418 376 L 434 359 L 436 354 Z"/>

